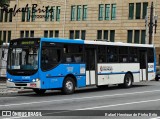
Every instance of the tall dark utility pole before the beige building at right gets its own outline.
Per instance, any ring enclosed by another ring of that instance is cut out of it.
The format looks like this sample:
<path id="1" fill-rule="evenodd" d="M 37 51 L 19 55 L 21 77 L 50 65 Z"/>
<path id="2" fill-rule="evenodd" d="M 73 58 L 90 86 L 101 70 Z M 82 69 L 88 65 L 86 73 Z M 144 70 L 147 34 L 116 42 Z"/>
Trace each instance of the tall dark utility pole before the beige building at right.
<path id="1" fill-rule="evenodd" d="M 152 44 L 153 33 L 153 2 L 151 3 L 150 23 L 149 23 L 149 44 Z"/>

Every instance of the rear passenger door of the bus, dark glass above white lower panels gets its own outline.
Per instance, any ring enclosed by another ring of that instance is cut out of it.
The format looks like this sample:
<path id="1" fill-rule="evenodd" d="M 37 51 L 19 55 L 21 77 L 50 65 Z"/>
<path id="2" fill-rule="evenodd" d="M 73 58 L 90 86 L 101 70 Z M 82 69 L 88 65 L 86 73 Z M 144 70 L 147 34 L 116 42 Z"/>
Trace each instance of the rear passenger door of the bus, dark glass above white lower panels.
<path id="1" fill-rule="evenodd" d="M 146 50 L 140 50 L 139 60 L 140 60 L 140 81 L 148 80 Z"/>

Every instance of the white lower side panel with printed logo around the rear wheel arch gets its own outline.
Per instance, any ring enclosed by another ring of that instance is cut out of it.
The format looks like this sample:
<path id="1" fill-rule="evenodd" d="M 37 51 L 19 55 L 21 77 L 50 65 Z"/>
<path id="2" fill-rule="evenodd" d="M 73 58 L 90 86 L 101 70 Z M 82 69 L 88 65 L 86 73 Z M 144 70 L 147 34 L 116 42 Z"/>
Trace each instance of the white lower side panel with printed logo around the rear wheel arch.
<path id="1" fill-rule="evenodd" d="M 131 72 L 134 82 L 139 82 L 139 63 L 98 64 L 98 85 L 120 84 L 127 72 Z"/>

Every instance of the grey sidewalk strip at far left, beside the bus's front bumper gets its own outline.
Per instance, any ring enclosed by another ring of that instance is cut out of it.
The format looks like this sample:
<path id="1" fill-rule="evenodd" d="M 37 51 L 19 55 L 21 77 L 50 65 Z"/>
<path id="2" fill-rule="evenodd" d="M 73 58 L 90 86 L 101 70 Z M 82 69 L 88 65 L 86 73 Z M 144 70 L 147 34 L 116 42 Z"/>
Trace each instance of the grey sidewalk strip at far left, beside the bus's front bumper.
<path id="1" fill-rule="evenodd" d="M 28 93 L 33 92 L 32 89 L 17 89 L 17 88 L 7 88 L 6 81 L 0 81 L 0 96 L 18 94 L 18 93 Z"/>

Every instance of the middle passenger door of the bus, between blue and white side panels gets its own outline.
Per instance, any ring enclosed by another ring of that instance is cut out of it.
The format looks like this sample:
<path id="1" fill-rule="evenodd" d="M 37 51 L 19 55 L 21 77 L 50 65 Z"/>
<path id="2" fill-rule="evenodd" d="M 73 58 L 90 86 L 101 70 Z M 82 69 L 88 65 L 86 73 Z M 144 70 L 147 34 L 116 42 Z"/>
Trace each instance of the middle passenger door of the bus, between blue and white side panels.
<path id="1" fill-rule="evenodd" d="M 86 48 L 86 85 L 94 85 L 96 83 L 96 50 L 95 48 Z"/>

